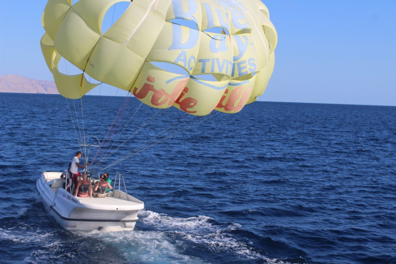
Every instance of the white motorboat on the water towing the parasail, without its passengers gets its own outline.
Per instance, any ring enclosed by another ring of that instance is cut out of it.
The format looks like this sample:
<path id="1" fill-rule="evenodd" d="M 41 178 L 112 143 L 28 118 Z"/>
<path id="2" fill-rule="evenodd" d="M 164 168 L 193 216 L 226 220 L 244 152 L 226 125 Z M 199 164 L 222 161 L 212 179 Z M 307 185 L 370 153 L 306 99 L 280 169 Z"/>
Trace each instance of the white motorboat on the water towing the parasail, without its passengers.
<path id="1" fill-rule="evenodd" d="M 139 210 L 144 209 L 142 201 L 121 191 L 120 187 L 106 198 L 74 197 L 62 187 L 61 175 L 59 172 L 42 173 L 36 188 L 46 211 L 63 228 L 82 231 L 133 230 Z"/>

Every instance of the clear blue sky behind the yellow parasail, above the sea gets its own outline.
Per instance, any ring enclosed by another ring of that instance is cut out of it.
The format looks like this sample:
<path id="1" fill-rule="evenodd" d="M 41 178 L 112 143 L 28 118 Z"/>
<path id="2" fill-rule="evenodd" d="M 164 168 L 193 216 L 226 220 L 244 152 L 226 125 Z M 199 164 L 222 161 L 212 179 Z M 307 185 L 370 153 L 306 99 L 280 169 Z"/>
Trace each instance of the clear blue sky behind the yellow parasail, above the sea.
<path id="1" fill-rule="evenodd" d="M 260 100 L 396 106 L 396 0 L 263 2 L 279 39 Z M 0 0 L 0 75 L 53 80 L 40 49 L 46 3 Z"/>

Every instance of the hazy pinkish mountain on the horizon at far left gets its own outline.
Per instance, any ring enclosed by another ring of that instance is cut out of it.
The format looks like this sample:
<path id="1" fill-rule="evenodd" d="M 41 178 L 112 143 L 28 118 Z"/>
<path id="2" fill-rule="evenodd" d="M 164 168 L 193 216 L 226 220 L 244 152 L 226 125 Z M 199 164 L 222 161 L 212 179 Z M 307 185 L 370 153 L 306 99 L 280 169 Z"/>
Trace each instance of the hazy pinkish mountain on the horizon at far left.
<path id="1" fill-rule="evenodd" d="M 14 74 L 0 76 L 0 92 L 59 94 L 54 82 L 39 81 Z"/>

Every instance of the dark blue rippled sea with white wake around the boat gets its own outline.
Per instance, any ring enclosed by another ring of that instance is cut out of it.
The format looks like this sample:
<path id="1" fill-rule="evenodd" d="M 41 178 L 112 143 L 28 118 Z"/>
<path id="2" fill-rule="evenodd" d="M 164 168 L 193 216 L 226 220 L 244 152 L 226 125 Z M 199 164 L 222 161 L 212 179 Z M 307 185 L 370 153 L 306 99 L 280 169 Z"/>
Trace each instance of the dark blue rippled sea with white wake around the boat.
<path id="1" fill-rule="evenodd" d="M 0 93 L 1 263 L 396 263 L 396 107 L 254 102 L 194 117 L 125 99 Z M 98 168 L 123 174 L 140 221 L 66 231 L 35 182 L 67 168 L 78 138 L 102 141 L 123 106 Z"/>

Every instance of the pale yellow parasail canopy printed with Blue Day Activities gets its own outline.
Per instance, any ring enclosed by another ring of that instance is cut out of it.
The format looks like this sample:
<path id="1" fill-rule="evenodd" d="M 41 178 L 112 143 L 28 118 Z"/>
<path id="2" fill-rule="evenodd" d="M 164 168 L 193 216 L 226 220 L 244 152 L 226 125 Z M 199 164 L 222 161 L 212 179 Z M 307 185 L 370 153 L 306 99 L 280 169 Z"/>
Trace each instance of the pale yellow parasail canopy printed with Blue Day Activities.
<path id="1" fill-rule="evenodd" d="M 95 88 L 88 75 L 149 106 L 203 116 L 239 112 L 264 92 L 277 33 L 260 0 L 133 0 L 102 33 L 103 17 L 117 2 L 130 0 L 48 1 L 41 47 L 64 97 L 81 98 Z M 83 73 L 60 73 L 61 57 Z"/>

